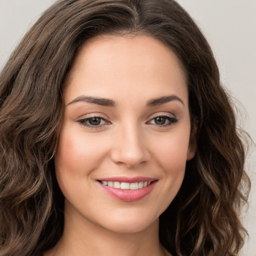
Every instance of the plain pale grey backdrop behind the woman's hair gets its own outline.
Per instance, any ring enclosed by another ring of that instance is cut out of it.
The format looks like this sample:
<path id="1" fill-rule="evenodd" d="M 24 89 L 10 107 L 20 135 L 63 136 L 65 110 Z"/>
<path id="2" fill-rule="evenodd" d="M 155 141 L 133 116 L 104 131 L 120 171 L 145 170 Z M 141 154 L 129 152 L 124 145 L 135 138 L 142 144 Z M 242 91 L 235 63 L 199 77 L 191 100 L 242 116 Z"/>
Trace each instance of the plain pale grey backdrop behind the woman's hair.
<path id="1" fill-rule="evenodd" d="M 256 0 L 177 0 L 208 39 L 223 85 L 241 109 L 239 123 L 256 141 Z M 26 30 L 55 0 L 0 0 L 0 69 Z M 240 103 L 239 103 L 240 102 Z M 243 105 L 243 107 L 242 107 Z M 247 114 L 246 114 L 247 112 Z M 252 181 L 242 256 L 256 256 L 256 152 L 246 169 Z"/>

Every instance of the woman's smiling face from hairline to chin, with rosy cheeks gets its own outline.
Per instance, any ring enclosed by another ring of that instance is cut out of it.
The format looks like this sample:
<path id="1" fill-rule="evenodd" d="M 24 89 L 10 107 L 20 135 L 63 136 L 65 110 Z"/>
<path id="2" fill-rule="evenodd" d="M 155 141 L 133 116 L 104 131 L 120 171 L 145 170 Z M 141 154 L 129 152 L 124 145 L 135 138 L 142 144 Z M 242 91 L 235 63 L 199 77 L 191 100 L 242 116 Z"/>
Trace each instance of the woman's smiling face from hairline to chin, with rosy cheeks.
<path id="1" fill-rule="evenodd" d="M 156 223 L 194 155 L 175 54 L 148 36 L 96 37 L 79 49 L 63 98 L 55 171 L 65 218 L 117 232 Z"/>

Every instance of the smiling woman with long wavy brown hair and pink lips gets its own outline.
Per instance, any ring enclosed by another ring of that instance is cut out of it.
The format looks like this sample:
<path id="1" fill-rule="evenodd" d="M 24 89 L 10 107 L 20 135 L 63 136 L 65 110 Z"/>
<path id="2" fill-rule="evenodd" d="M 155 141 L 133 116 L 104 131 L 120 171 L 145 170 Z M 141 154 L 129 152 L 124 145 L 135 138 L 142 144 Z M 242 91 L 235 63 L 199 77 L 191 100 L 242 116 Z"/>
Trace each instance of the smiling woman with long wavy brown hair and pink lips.
<path id="1" fill-rule="evenodd" d="M 0 255 L 236 255 L 249 180 L 212 52 L 172 0 L 61 0 L 0 74 Z"/>

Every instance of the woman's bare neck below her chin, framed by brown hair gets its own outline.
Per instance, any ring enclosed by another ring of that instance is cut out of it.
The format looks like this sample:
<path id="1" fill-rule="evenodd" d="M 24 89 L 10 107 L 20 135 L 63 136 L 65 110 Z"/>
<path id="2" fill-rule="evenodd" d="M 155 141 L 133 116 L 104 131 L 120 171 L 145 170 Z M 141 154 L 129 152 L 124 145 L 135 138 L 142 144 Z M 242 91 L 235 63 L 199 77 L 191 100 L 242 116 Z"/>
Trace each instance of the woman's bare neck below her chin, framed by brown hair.
<path id="1" fill-rule="evenodd" d="M 158 219 L 137 232 L 115 232 L 96 225 L 65 207 L 63 235 L 44 256 L 165 256 L 158 238 Z"/>

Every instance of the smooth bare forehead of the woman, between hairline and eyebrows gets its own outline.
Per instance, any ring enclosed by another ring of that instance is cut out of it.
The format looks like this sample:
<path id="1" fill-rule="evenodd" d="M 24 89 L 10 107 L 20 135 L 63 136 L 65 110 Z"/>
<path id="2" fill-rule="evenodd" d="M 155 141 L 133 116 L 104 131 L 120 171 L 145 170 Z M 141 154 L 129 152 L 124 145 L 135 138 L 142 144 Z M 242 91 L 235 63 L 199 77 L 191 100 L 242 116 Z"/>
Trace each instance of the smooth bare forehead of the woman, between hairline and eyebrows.
<path id="1" fill-rule="evenodd" d="M 104 35 L 86 41 L 66 76 L 64 98 L 78 94 L 145 97 L 187 94 L 177 56 L 165 44 L 146 35 Z M 187 99 L 185 96 L 184 101 Z"/>

